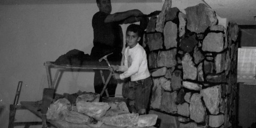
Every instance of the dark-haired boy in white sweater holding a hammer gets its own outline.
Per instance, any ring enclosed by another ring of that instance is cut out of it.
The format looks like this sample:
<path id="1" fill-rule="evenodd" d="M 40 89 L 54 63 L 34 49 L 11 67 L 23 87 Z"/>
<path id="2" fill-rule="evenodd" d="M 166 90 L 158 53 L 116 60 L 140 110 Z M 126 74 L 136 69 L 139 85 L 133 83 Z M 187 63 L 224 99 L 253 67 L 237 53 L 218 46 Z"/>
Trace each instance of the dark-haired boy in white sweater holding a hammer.
<path id="1" fill-rule="evenodd" d="M 139 25 L 131 24 L 126 30 L 126 44 L 124 66 L 111 65 L 111 70 L 123 73 L 114 73 L 115 79 L 129 81 L 129 100 L 134 100 L 134 107 L 140 114 L 145 114 L 148 108 L 148 101 L 151 92 L 152 79 L 148 71 L 147 55 L 143 47 L 138 43 L 142 37 L 142 30 Z M 131 102 L 129 103 L 131 105 Z M 133 106 L 133 105 L 131 105 Z"/>

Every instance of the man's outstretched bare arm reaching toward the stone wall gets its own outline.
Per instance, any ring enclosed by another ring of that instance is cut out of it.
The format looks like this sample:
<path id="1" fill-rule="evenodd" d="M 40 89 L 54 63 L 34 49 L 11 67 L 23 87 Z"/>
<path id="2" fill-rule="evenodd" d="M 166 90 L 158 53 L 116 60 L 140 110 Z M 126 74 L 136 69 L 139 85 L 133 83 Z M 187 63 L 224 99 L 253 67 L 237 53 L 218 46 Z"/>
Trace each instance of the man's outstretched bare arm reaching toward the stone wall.
<path id="1" fill-rule="evenodd" d="M 105 23 L 117 22 L 117 21 L 125 20 L 128 17 L 139 17 L 139 16 L 142 16 L 142 15 L 143 15 L 143 13 L 140 12 L 140 10 L 137 10 L 137 9 L 129 10 L 129 11 L 125 11 L 125 12 L 116 12 L 114 14 L 108 15 L 105 18 L 104 22 Z"/>

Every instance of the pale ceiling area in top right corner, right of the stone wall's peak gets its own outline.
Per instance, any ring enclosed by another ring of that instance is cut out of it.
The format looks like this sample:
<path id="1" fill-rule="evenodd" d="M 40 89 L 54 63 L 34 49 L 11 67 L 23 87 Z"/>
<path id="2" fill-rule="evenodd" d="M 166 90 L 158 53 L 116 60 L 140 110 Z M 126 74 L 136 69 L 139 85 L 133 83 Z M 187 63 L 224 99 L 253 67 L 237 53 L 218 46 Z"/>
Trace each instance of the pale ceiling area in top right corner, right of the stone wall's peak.
<path id="1" fill-rule="evenodd" d="M 204 0 L 220 16 L 239 25 L 256 25 L 256 0 Z"/>

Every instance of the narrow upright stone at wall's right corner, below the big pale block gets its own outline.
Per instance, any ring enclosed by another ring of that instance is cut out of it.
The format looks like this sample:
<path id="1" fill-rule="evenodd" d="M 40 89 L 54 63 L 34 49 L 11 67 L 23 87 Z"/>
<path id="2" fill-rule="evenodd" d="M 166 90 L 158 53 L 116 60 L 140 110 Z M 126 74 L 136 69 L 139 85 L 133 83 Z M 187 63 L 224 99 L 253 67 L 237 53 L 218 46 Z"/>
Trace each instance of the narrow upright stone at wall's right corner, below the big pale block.
<path id="1" fill-rule="evenodd" d="M 226 52 L 219 53 L 216 55 L 214 62 L 216 67 L 216 73 L 221 73 L 224 71 L 225 68 L 225 58 L 226 58 Z"/>

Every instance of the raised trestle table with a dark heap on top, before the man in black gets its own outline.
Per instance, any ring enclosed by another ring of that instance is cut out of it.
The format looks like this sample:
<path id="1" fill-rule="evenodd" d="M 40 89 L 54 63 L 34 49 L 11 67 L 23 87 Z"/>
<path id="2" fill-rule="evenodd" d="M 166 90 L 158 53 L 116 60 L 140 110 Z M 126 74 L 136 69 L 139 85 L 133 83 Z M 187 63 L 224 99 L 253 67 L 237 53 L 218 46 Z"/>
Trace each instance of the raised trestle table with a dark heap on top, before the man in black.
<path id="1" fill-rule="evenodd" d="M 99 63 L 99 62 L 98 62 Z M 93 64 L 93 63 L 91 63 Z M 57 87 L 57 81 L 59 79 L 59 76 L 60 74 L 63 72 L 63 71 L 67 71 L 67 70 L 84 70 L 84 71 L 87 71 L 87 70 L 99 70 L 100 73 L 101 73 L 101 76 L 102 76 L 102 81 L 103 81 L 103 84 L 104 84 L 104 87 L 100 93 L 100 96 L 102 96 L 102 94 L 104 93 L 104 91 L 106 92 L 107 96 L 109 96 L 108 94 L 108 89 L 106 88 L 107 85 L 108 85 L 108 82 L 110 81 L 111 79 L 111 76 L 112 76 L 112 72 L 109 73 L 108 75 L 108 78 L 107 80 L 105 81 L 105 78 L 103 76 L 103 72 L 102 70 L 109 70 L 108 69 L 108 65 L 82 65 L 82 66 L 73 66 L 73 65 L 57 65 L 55 64 L 54 62 L 51 62 L 51 61 L 46 61 L 44 63 L 44 66 L 46 68 L 46 73 L 47 73 L 47 81 L 48 81 L 48 85 L 49 85 L 49 88 L 53 88 L 56 90 L 56 87 Z M 54 76 L 54 79 L 52 80 L 52 77 L 51 77 L 51 68 L 55 68 L 57 69 L 56 73 L 55 73 L 55 76 Z"/>

